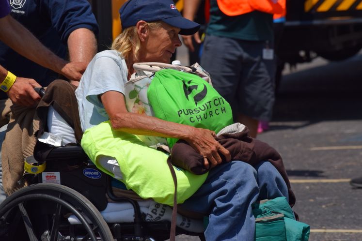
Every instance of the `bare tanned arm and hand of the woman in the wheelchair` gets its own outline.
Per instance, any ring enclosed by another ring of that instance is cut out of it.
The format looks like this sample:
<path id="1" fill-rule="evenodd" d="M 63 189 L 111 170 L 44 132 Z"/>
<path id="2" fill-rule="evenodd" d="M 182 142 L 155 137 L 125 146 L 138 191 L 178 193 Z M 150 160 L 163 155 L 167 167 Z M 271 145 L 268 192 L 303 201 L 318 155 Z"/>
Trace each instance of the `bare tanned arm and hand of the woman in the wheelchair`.
<path id="1" fill-rule="evenodd" d="M 156 117 L 130 113 L 126 109 L 124 95 L 117 91 L 107 91 L 101 95 L 112 128 L 135 135 L 173 137 L 186 140 L 196 151 L 204 156 L 205 167 L 221 163 L 220 151 L 230 160 L 230 153 L 214 138 L 213 131 L 178 124 Z"/>

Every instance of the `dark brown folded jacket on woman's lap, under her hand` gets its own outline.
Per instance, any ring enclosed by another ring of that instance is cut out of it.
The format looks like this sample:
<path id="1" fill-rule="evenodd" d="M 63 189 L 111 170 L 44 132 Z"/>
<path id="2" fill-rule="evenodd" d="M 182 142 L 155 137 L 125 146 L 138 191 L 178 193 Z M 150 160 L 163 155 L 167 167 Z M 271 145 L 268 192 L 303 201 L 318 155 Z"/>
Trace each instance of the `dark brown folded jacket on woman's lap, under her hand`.
<path id="1" fill-rule="evenodd" d="M 267 143 L 250 137 L 249 130 L 245 129 L 239 133 L 222 134 L 216 140 L 230 152 L 232 160 L 240 160 L 252 166 L 262 161 L 269 161 L 282 175 L 288 187 L 289 204 L 293 207 L 296 197 L 291 190 L 290 182 L 285 171 L 282 157 L 274 148 Z M 222 162 L 225 157 L 221 154 Z M 204 157 L 193 149 L 186 141 L 178 140 L 171 150 L 171 162 L 195 174 L 203 174 L 208 171 L 204 166 Z"/>

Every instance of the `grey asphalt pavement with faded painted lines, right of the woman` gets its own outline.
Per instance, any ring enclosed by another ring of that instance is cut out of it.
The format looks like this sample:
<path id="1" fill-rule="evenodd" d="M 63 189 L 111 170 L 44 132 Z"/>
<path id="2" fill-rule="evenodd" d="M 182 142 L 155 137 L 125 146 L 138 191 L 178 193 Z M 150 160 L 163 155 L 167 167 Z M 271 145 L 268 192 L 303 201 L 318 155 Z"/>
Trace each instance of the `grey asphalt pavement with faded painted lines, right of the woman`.
<path id="1" fill-rule="evenodd" d="M 362 54 L 286 68 L 270 129 L 258 136 L 283 157 L 310 241 L 362 241 L 362 189 L 349 184 L 362 176 L 361 66 Z"/>

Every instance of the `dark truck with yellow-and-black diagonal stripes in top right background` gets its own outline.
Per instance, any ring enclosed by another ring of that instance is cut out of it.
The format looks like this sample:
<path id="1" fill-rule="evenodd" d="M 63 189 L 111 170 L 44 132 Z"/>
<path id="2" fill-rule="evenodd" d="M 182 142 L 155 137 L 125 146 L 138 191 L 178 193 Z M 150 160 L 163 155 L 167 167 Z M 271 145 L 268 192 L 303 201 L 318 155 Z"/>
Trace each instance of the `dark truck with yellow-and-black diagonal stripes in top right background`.
<path id="1" fill-rule="evenodd" d="M 284 62 L 344 60 L 362 48 L 362 0 L 287 0 L 277 54 Z"/>

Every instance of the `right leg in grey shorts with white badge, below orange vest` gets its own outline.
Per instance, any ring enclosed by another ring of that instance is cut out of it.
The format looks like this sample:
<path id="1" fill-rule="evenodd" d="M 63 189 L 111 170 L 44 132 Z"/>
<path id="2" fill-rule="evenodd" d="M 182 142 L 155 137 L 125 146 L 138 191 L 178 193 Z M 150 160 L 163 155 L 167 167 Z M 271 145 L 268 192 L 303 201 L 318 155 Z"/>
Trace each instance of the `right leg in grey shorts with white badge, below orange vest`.
<path id="1" fill-rule="evenodd" d="M 275 102 L 275 58 L 273 43 L 268 41 L 239 41 L 243 52 L 243 72 L 238 86 L 237 121 L 256 137 L 259 121 L 269 121 Z M 269 52 L 268 52 L 269 51 Z M 267 52 L 267 53 L 265 53 Z M 249 125 L 248 125 L 249 124 Z"/>

